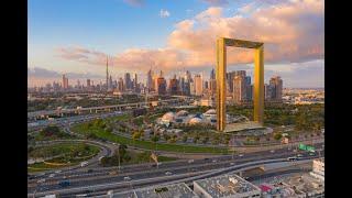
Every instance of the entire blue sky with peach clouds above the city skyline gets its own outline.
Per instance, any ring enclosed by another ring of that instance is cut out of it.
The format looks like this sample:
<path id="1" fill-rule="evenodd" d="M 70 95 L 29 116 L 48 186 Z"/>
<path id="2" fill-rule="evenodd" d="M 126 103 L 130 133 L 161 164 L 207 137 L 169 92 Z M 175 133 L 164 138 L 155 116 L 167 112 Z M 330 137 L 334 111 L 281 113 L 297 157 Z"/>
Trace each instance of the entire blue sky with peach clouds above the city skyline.
<path id="1" fill-rule="evenodd" d="M 217 36 L 268 43 L 265 80 L 278 75 L 286 87 L 323 87 L 323 1 L 195 0 L 180 1 L 175 8 L 170 2 L 128 2 L 131 1 L 30 1 L 29 87 L 44 86 L 63 74 L 74 81 L 105 79 L 106 55 L 112 56 L 109 73 L 113 78 L 129 72 L 138 73 L 145 81 L 151 67 L 164 70 L 167 78 L 184 70 L 205 70 L 208 75 L 215 67 L 211 46 Z M 68 6 L 81 7 L 80 12 L 63 15 Z M 89 16 L 94 7 L 99 13 L 107 13 Z M 56 15 L 41 16 L 48 12 Z M 132 19 L 121 18 L 123 14 Z M 57 23 L 61 29 L 53 26 Z M 243 29 L 246 23 L 256 28 L 257 33 Z M 75 33 L 80 29 L 86 30 L 82 36 Z M 253 72 L 253 63 L 249 62 L 252 57 L 245 51 L 229 53 L 233 57 L 229 59 L 229 70 Z"/>

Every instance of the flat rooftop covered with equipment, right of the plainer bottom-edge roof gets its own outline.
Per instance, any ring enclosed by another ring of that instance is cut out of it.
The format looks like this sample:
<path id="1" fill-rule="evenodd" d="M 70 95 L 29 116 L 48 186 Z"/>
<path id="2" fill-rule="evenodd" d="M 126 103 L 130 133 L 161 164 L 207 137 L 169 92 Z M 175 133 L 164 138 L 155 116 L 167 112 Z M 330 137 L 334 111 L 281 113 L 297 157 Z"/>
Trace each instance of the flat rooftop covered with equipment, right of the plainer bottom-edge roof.
<path id="1" fill-rule="evenodd" d="M 241 196 L 249 193 L 261 193 L 261 189 L 252 183 L 241 178 L 235 174 L 221 175 L 200 180 L 195 180 L 211 197 Z"/>

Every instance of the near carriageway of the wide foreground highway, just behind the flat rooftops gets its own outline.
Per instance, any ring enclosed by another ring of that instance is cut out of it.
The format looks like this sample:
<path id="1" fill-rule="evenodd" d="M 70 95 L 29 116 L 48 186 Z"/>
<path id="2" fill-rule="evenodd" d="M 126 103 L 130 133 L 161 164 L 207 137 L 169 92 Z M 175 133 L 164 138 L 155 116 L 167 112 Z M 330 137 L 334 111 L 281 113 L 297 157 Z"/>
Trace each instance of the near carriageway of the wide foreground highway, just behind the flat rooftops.
<path id="1" fill-rule="evenodd" d="M 302 157 L 301 160 L 310 160 L 314 156 L 306 156 Z M 286 157 L 284 158 L 273 158 L 268 157 L 260 161 L 252 161 L 252 162 L 241 162 L 241 163 L 235 163 L 234 165 L 231 163 L 226 164 L 215 164 L 215 167 L 208 168 L 207 165 L 199 166 L 196 172 L 179 172 L 179 170 L 174 170 L 173 175 L 165 175 L 164 173 L 158 174 L 157 176 L 151 176 L 147 175 L 146 177 L 143 177 L 142 175 L 144 173 L 141 173 L 139 177 L 131 177 L 131 180 L 125 180 L 123 178 L 121 179 L 114 179 L 106 183 L 99 183 L 99 184 L 89 184 L 85 183 L 84 186 L 69 186 L 68 188 L 59 188 L 59 189 L 47 189 L 47 191 L 40 191 L 36 195 L 37 196 L 43 196 L 47 194 L 59 194 L 61 197 L 66 197 L 66 196 L 73 196 L 77 194 L 97 194 L 98 191 L 101 191 L 100 194 L 106 194 L 107 190 L 113 189 L 117 191 L 123 191 L 129 188 L 139 188 L 145 185 L 156 185 L 156 184 L 170 184 L 170 183 L 190 183 L 196 179 L 202 179 L 202 178 L 208 178 L 208 177 L 213 177 L 218 175 L 222 175 L 226 173 L 234 172 L 238 169 L 243 169 L 243 168 L 253 168 L 263 164 L 270 164 L 270 163 L 278 163 L 278 162 L 287 162 Z M 199 169 L 201 168 L 201 169 Z M 118 178 L 119 176 L 117 176 Z M 120 176 L 122 177 L 122 176 Z M 33 196 L 31 191 L 29 190 L 29 197 Z"/>

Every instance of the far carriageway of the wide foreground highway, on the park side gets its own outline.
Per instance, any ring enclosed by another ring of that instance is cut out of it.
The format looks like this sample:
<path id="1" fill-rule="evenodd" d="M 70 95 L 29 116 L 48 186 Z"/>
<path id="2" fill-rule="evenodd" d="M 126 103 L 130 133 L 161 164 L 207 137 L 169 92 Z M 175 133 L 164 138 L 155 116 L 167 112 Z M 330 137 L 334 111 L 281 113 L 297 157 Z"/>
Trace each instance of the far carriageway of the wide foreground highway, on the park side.
<path id="1" fill-rule="evenodd" d="M 320 145 L 321 146 L 321 145 Z M 318 145 L 319 147 L 319 145 Z M 287 148 L 276 150 L 274 153 L 272 152 L 256 152 L 246 154 L 245 156 L 221 156 L 221 157 L 213 157 L 209 160 L 195 160 L 193 163 L 188 163 L 185 161 L 179 162 L 172 162 L 172 163 L 164 163 L 158 168 L 151 167 L 148 165 L 136 165 L 136 166 L 125 166 L 123 167 L 122 172 L 119 175 L 109 175 L 111 169 L 117 169 L 117 167 L 112 168 L 96 168 L 92 173 L 87 173 L 84 170 L 72 170 L 69 173 L 61 173 L 57 174 L 54 178 L 48 178 L 44 184 L 37 187 L 37 180 L 29 179 L 29 195 L 33 191 L 37 191 L 37 195 L 45 195 L 45 191 L 55 191 L 62 194 L 66 194 L 67 189 L 76 189 L 75 194 L 86 191 L 87 186 L 97 186 L 97 189 L 102 188 L 102 186 L 109 186 L 108 184 L 120 184 L 120 188 L 127 188 L 124 177 L 130 177 L 133 183 L 135 180 L 141 179 L 155 179 L 155 183 L 158 183 L 161 178 L 164 178 L 166 172 L 170 172 L 172 176 L 166 177 L 167 180 L 172 180 L 170 178 L 177 177 L 179 178 L 187 178 L 189 176 L 195 176 L 198 173 L 207 173 L 219 170 L 222 168 L 229 168 L 237 165 L 241 165 L 243 163 L 251 163 L 251 162 L 258 162 L 263 160 L 275 160 L 275 158 L 287 158 L 289 156 L 294 156 L 297 153 L 302 152 L 294 152 L 288 151 Z M 320 153 L 323 156 L 323 151 Z M 306 157 L 315 157 L 309 156 L 307 153 L 302 154 Z M 67 176 L 70 177 L 67 177 Z M 61 188 L 58 182 L 64 179 L 64 177 L 70 180 L 70 186 L 68 188 Z M 157 179 L 160 178 L 160 179 Z M 165 182 L 165 180 L 163 180 Z M 122 185 L 124 184 L 124 185 Z M 141 183 L 142 185 L 143 183 Z M 100 185 L 100 187 L 99 187 Z M 80 190 L 79 190 L 80 189 Z M 114 188 L 119 189 L 119 188 Z"/>

